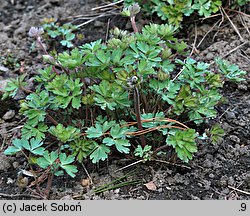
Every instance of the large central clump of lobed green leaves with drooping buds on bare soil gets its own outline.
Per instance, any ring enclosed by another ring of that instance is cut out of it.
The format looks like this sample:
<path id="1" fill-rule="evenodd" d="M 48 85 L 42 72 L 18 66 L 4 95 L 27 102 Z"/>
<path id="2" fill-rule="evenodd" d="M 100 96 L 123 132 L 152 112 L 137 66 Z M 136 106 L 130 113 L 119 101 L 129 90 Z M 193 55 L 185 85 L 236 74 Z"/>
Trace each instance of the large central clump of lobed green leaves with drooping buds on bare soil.
<path id="1" fill-rule="evenodd" d="M 213 73 L 209 64 L 176 59 L 187 47 L 174 37 L 176 28 L 150 24 L 138 32 L 137 12 L 134 5 L 123 13 L 134 33 L 115 28 L 106 43 L 93 41 L 55 57 L 41 43 L 42 29 L 31 28 L 49 66 L 39 70 L 36 90 L 21 101 L 27 119 L 22 137 L 5 153 L 22 152 L 49 171 L 48 184 L 63 171 L 74 177 L 74 162 L 86 158 L 98 163 L 119 154 L 150 160 L 173 148 L 188 162 L 197 151 L 198 131 L 191 125 L 216 117 L 225 77 L 240 81 L 244 75 L 224 64 Z M 19 87 L 9 83 L 6 94 L 14 97 Z M 216 141 L 220 133 L 214 129 L 208 139 Z"/>

